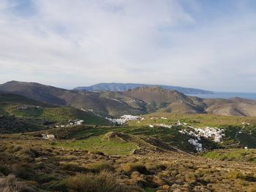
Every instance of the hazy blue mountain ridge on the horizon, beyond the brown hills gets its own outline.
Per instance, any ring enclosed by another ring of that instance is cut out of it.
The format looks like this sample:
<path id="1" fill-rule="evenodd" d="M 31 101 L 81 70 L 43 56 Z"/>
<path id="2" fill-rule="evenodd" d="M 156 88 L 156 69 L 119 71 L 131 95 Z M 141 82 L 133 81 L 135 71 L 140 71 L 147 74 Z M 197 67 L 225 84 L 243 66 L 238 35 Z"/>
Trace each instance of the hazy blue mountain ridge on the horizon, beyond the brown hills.
<path id="1" fill-rule="evenodd" d="M 148 85 L 148 84 L 137 84 L 137 83 L 98 83 L 91 85 L 89 87 L 77 87 L 74 90 L 83 90 L 83 91 L 128 91 L 129 89 L 142 88 L 142 87 L 154 87 L 164 88 L 167 90 L 176 90 L 184 94 L 211 94 L 212 91 L 206 91 L 198 88 L 181 88 L 177 86 L 170 85 Z"/>

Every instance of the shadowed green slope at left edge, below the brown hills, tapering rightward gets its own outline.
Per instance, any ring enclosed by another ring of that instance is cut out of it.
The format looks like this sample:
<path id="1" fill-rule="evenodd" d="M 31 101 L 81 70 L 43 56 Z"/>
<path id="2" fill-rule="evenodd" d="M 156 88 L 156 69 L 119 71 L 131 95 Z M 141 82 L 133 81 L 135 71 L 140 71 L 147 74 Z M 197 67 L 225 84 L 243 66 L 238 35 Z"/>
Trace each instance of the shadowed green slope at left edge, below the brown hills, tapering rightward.
<path id="1" fill-rule="evenodd" d="M 69 120 L 110 125 L 105 118 L 91 112 L 73 107 L 56 107 L 11 93 L 0 93 L 0 118 L 0 133 L 38 131 L 54 124 L 66 125 Z"/>

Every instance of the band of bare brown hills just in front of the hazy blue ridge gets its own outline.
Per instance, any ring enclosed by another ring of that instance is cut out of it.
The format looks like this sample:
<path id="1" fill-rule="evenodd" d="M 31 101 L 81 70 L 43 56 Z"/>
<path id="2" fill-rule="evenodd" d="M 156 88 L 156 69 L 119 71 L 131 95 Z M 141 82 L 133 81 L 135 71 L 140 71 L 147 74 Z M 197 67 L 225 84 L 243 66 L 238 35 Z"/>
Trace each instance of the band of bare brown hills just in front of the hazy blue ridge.
<path id="1" fill-rule="evenodd" d="M 122 92 L 94 92 L 70 91 L 36 82 L 11 81 L 0 85 L 0 93 L 14 93 L 46 104 L 74 107 L 102 116 L 140 115 L 151 112 L 256 116 L 255 100 L 200 99 L 158 86 L 146 86 Z"/>

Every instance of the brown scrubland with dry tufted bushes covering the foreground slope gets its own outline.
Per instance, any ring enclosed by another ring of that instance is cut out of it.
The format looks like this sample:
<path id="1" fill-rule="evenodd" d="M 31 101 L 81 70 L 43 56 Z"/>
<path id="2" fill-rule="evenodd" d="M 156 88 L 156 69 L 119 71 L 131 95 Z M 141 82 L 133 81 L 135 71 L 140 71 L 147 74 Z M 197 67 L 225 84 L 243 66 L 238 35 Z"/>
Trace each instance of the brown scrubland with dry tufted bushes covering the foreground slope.
<path id="1" fill-rule="evenodd" d="M 0 144 L 1 186 L 11 182 L 22 190 L 82 191 L 88 186 L 98 188 L 94 181 L 99 180 L 105 191 L 117 188 L 138 192 L 255 191 L 256 188 L 256 165 L 240 160 L 219 161 L 172 150 L 137 150 L 130 155 L 89 153 L 29 135 L 2 135 Z"/>

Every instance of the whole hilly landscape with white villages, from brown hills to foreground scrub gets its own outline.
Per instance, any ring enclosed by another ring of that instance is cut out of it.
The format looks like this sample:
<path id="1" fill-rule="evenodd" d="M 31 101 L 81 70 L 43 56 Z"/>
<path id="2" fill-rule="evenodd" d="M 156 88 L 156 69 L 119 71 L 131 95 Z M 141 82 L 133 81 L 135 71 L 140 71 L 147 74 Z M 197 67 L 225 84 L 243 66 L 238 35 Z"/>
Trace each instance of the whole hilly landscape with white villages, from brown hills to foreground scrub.
<path id="1" fill-rule="evenodd" d="M 4 191 L 255 191 L 256 101 L 0 85 Z"/>

